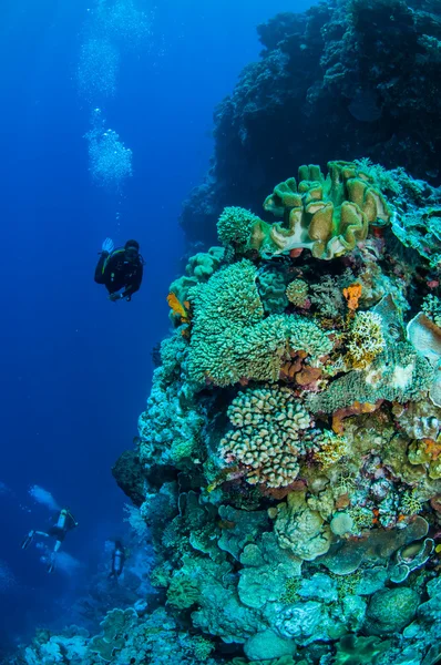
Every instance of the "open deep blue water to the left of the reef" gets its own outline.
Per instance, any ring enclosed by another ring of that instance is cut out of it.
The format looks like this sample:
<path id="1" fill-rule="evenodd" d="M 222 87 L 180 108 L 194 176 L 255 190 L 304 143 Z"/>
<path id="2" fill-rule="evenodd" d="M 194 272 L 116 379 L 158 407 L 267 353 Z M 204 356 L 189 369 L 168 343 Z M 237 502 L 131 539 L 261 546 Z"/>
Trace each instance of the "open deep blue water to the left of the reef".
<path id="1" fill-rule="evenodd" d="M 49 622 L 74 593 L 75 580 L 49 577 L 34 549 L 19 549 L 48 516 L 29 485 L 72 508 L 80 528 L 66 550 L 85 565 L 119 529 L 124 497 L 110 469 L 136 434 L 150 354 L 167 331 L 167 287 L 184 252 L 177 217 L 208 166 L 213 109 L 258 58 L 255 25 L 309 3 L 161 0 L 148 48 L 123 54 L 117 94 L 103 109 L 133 150 L 121 197 L 91 182 L 91 105 L 75 88 L 92 0 L 1 2 L 0 482 L 9 492 L 0 560 L 17 585 L 0 585 L 0 646 Z M 107 235 L 141 242 L 147 263 L 131 304 L 111 304 L 93 283 Z"/>

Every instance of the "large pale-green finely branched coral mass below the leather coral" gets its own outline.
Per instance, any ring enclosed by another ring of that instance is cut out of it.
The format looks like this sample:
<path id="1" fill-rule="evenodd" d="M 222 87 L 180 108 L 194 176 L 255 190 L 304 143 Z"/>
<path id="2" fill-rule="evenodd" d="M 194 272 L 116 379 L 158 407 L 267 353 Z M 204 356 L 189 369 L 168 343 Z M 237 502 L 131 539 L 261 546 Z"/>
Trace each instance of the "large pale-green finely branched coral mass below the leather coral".
<path id="1" fill-rule="evenodd" d="M 332 348 L 312 321 L 288 315 L 264 318 L 256 268 L 249 260 L 219 270 L 207 284 L 192 289 L 189 300 L 188 376 L 196 383 L 277 381 L 289 350 L 318 358 Z"/>

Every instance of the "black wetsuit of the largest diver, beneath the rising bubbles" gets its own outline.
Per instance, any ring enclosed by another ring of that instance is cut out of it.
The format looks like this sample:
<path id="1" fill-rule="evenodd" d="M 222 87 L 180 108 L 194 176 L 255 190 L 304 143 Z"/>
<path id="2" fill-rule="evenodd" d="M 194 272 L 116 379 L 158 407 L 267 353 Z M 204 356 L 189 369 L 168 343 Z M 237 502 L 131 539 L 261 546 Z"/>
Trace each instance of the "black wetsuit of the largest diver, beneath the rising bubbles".
<path id="1" fill-rule="evenodd" d="M 143 278 L 143 259 L 137 256 L 131 263 L 125 259 L 125 249 L 115 249 L 112 254 L 102 252 L 95 268 L 95 282 L 104 284 L 110 294 L 120 289 L 123 298 L 130 298 L 140 289 Z"/>

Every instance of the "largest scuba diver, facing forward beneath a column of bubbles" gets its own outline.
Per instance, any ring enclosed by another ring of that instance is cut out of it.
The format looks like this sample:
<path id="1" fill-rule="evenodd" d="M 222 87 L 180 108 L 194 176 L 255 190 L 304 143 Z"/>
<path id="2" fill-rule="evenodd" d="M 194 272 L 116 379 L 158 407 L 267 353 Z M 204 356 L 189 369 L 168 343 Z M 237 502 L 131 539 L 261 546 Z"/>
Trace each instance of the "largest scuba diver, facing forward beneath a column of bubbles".
<path id="1" fill-rule="evenodd" d="M 95 268 L 95 282 L 104 284 L 112 303 L 123 298 L 129 301 L 140 289 L 144 263 L 136 241 L 127 241 L 124 247 L 114 249 L 113 242 L 105 238 Z"/>

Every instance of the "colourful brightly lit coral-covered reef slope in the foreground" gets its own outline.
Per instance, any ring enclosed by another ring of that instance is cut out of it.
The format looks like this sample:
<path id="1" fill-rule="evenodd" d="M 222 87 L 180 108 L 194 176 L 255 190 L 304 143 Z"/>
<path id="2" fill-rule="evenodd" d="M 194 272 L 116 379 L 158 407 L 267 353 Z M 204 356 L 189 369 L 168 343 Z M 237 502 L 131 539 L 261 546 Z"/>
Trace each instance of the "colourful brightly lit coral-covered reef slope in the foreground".
<path id="1" fill-rule="evenodd" d="M 330 164 L 326 181 L 307 166 L 275 187 L 273 236 L 226 208 L 225 250 L 191 257 L 192 283 L 170 289 L 173 330 L 113 470 L 139 542 L 152 539 L 156 603 L 114 607 L 90 635 L 40 635 L 21 662 L 441 655 L 441 268 L 403 259 L 387 212 L 414 202 L 401 172 L 394 186 L 375 164 Z"/>

